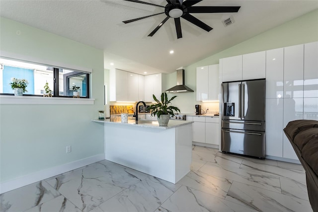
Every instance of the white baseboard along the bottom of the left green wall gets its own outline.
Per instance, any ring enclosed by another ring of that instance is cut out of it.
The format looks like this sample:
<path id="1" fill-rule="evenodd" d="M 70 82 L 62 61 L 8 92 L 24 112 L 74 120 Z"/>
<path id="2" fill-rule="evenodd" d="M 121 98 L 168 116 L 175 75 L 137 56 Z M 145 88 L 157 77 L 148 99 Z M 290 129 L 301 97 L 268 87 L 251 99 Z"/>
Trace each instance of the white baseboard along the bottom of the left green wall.
<path id="1" fill-rule="evenodd" d="M 98 154 L 88 158 L 73 161 L 71 163 L 63 164 L 53 168 L 45 169 L 24 177 L 20 177 L 14 180 L 10 180 L 0 184 L 0 194 L 41 181 L 56 175 L 60 175 L 65 172 L 78 169 L 83 166 L 87 166 L 98 161 L 105 160 L 105 154 Z"/>

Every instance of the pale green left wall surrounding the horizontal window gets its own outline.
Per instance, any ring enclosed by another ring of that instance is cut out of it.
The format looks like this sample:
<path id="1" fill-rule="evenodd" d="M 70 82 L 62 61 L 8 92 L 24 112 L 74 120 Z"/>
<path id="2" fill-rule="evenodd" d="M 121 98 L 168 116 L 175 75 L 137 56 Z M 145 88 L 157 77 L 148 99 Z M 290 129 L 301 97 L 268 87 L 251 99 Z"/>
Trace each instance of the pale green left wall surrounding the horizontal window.
<path id="1" fill-rule="evenodd" d="M 103 51 L 3 17 L 0 50 L 91 68 L 95 99 L 94 105 L 0 104 L 0 182 L 103 154 L 103 125 L 91 121 L 104 107 Z"/>

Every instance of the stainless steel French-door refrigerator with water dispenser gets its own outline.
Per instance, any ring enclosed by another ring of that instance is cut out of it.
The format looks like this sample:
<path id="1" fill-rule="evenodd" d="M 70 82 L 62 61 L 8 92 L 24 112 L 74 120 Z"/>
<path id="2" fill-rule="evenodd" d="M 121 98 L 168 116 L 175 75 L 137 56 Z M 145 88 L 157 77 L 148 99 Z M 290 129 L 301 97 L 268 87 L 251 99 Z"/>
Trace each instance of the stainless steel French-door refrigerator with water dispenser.
<path id="1" fill-rule="evenodd" d="M 222 83 L 221 150 L 265 158 L 265 79 Z"/>

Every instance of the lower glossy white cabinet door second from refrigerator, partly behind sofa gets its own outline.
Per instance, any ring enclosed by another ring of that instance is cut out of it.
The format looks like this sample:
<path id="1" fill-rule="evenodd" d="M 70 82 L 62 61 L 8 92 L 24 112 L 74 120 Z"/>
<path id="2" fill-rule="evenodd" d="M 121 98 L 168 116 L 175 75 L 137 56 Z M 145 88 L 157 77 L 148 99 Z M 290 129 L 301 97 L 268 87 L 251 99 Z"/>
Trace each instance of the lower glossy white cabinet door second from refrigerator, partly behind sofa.
<path id="1" fill-rule="evenodd" d="M 281 128 L 282 130 L 286 127 L 289 121 L 303 119 L 303 101 L 303 98 L 284 99 L 284 121 L 283 127 Z M 285 133 L 283 136 L 283 157 L 298 160 L 298 157 Z"/>

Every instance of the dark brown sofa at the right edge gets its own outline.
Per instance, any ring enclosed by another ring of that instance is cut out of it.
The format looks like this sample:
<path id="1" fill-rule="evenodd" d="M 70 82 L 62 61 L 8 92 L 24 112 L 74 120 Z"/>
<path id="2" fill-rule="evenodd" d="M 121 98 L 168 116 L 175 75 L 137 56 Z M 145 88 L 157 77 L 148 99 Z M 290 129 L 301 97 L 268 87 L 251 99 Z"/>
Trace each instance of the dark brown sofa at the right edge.
<path id="1" fill-rule="evenodd" d="M 318 212 L 318 121 L 290 121 L 284 132 L 306 171 L 309 201 Z"/>

